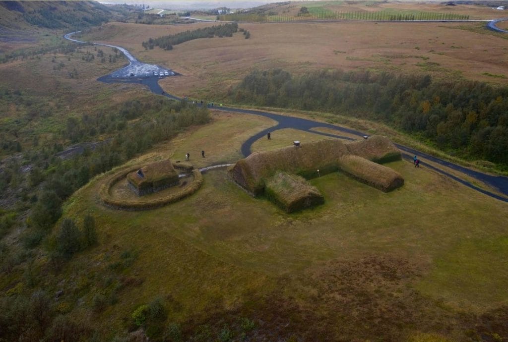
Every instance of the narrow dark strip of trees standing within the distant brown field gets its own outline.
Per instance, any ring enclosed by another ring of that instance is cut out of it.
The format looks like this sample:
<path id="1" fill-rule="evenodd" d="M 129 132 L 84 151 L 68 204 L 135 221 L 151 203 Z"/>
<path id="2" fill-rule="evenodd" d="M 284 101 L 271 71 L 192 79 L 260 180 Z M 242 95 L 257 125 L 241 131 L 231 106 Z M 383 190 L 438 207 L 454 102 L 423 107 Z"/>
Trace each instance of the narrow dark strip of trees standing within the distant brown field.
<path id="1" fill-rule="evenodd" d="M 153 49 L 158 46 L 164 50 L 172 50 L 173 45 L 181 44 L 187 41 L 192 41 L 199 38 L 213 38 L 213 37 L 233 37 L 233 33 L 238 31 L 238 24 L 223 24 L 210 27 L 198 28 L 195 30 L 186 30 L 185 32 L 176 33 L 176 35 L 163 36 L 159 38 L 150 38 L 147 42 L 141 43 L 143 47 Z"/>

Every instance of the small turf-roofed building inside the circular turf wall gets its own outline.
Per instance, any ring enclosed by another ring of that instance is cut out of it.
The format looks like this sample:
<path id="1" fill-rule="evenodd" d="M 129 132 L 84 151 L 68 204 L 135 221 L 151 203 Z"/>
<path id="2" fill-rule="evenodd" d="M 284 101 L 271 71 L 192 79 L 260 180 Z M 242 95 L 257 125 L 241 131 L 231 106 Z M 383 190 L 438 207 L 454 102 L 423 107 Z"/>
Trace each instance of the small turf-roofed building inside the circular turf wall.
<path id="1" fill-rule="evenodd" d="M 178 173 L 171 161 L 157 161 L 127 175 L 129 188 L 138 196 L 178 185 Z"/>

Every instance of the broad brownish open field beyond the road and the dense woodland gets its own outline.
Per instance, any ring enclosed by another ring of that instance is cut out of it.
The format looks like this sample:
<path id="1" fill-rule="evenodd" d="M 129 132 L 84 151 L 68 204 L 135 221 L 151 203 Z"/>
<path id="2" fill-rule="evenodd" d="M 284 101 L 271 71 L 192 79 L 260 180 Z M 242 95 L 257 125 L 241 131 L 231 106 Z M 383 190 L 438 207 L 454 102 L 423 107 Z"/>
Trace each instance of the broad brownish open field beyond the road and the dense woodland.
<path id="1" fill-rule="evenodd" d="M 144 51 L 140 45 L 149 38 L 209 25 L 112 23 L 84 38 L 124 46 L 141 60 L 170 67 L 184 77 L 162 80 L 166 91 L 210 100 L 224 98 L 228 87 L 251 70 L 274 67 L 296 74 L 338 68 L 427 73 L 436 79 L 503 85 L 508 80 L 490 76 L 506 76 L 504 40 L 479 23 L 240 23 L 251 33 L 248 40 L 237 33 L 232 38 L 189 41 L 171 51 Z"/>

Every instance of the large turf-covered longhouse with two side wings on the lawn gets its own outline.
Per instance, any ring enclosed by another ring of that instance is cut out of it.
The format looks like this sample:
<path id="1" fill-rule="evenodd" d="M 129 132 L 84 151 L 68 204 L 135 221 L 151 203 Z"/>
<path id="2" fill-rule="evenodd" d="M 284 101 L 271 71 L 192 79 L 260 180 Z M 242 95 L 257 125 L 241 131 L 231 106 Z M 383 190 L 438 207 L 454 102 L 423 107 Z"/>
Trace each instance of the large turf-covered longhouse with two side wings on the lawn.
<path id="1" fill-rule="evenodd" d="M 400 159 L 400 151 L 384 136 L 347 144 L 327 139 L 252 153 L 229 169 L 229 177 L 252 196 L 266 194 L 286 211 L 296 211 L 322 203 L 323 196 L 290 174 L 311 179 L 340 170 L 386 192 L 402 186 L 404 179 L 380 163 Z"/>

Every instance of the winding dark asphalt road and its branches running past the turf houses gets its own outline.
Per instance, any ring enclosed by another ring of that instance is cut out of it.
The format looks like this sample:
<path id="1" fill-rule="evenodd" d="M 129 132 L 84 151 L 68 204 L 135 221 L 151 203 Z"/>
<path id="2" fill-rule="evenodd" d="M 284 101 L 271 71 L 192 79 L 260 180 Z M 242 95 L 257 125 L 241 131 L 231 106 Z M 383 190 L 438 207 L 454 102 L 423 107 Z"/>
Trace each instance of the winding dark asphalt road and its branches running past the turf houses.
<path id="1" fill-rule="evenodd" d="M 499 29 L 495 25 L 497 22 L 502 21 L 502 20 L 508 20 L 508 18 L 492 20 L 492 21 L 490 21 L 487 24 L 487 26 L 489 28 L 491 28 L 491 29 L 495 29 L 497 31 L 502 31 L 502 32 L 507 32 L 508 33 L 508 31 Z M 64 38 L 68 39 L 68 40 L 71 40 L 73 42 L 88 44 L 87 42 L 82 42 L 82 41 L 78 41 L 78 40 L 72 39 L 71 36 L 74 33 L 76 33 L 76 32 L 68 33 L 67 35 L 64 36 Z M 118 47 L 118 46 L 114 46 L 114 45 L 109 45 L 109 44 L 101 44 L 101 43 L 92 43 L 92 44 L 113 47 L 113 48 L 116 48 L 116 49 L 122 51 L 122 53 L 126 56 L 126 58 L 129 59 L 129 65 L 127 65 L 125 67 L 130 66 L 132 63 L 141 63 L 133 55 L 131 55 L 129 53 L 129 51 L 125 50 L 124 48 L 121 48 L 121 47 Z M 125 69 L 125 67 L 123 67 L 122 69 Z M 112 76 L 113 74 L 100 77 L 98 79 L 98 81 L 105 82 L 105 83 L 135 83 L 135 84 L 143 84 L 143 85 L 146 85 L 148 87 L 148 89 L 150 89 L 150 91 L 155 93 L 155 94 L 162 94 L 162 95 L 164 95 L 166 97 L 169 97 L 171 99 L 182 100 L 180 97 L 177 97 L 175 95 L 171 95 L 171 94 L 168 94 L 168 93 L 164 92 L 162 87 L 158 84 L 158 79 L 156 77 L 149 77 L 149 78 L 118 78 L 117 76 L 116 77 Z M 198 104 L 198 106 L 199 106 L 199 104 Z M 342 136 L 342 135 L 338 135 L 338 134 L 331 134 L 331 133 L 325 133 L 325 132 L 320 132 L 320 131 L 316 131 L 316 130 L 312 130 L 312 129 L 313 128 L 317 128 L 317 127 L 322 127 L 322 128 L 334 129 L 334 130 L 337 130 L 339 132 L 344 132 L 344 133 L 348 133 L 348 134 L 352 134 L 352 135 L 357 135 L 359 137 L 367 135 L 367 134 L 365 134 L 363 132 L 360 132 L 360 131 L 357 131 L 357 130 L 354 130 L 354 129 L 345 128 L 345 127 L 341 127 L 341 126 L 337 126 L 337 125 L 333 125 L 333 124 L 329 124 L 329 123 L 318 122 L 318 121 L 313 121 L 313 120 L 309 120 L 309 119 L 302 119 L 302 118 L 297 118 L 297 117 L 291 117 L 291 116 L 284 116 L 284 115 L 279 115 L 279 114 L 274 114 L 274 113 L 268 113 L 268 112 L 263 112 L 263 111 L 246 110 L 246 109 L 232 108 L 232 107 L 217 107 L 217 106 L 210 106 L 210 108 L 219 109 L 221 111 L 226 111 L 226 112 L 234 112 L 234 113 L 242 113 L 242 114 L 249 114 L 249 115 L 264 116 L 264 117 L 270 118 L 270 119 L 272 119 L 272 120 L 277 122 L 276 125 L 258 132 L 257 134 L 251 136 L 249 139 L 247 139 L 242 144 L 241 152 L 242 152 L 242 154 L 244 156 L 248 156 L 251 153 L 251 146 L 252 146 L 252 144 L 255 141 L 257 141 L 260 138 L 263 138 L 263 136 L 265 136 L 268 132 L 273 132 L 273 131 L 276 131 L 278 129 L 293 128 L 293 129 L 298 129 L 298 130 L 302 130 L 302 131 L 307 131 L 307 132 L 311 132 L 311 133 L 315 133 L 315 134 L 321 134 L 321 135 L 330 136 L 330 137 L 333 137 L 333 138 L 345 139 L 345 140 L 355 140 L 355 139 L 349 138 L 347 136 Z M 488 175 L 488 174 L 485 174 L 485 173 L 482 173 L 482 172 L 478 172 L 478 171 L 469 169 L 467 167 L 463 167 L 463 166 L 454 164 L 454 163 L 446 161 L 446 160 L 442 160 L 440 158 L 431 156 L 429 154 L 417 151 L 415 149 L 412 149 L 412 148 L 409 148 L 409 147 L 406 147 L 406 146 L 403 146 L 403 145 L 399 145 L 399 144 L 395 144 L 395 145 L 397 146 L 397 148 L 399 148 L 402 151 L 402 156 L 405 159 L 408 159 L 408 160 L 412 161 L 412 157 L 414 155 L 418 155 L 420 157 L 425 158 L 426 160 L 430 160 L 430 161 L 432 161 L 434 163 L 438 163 L 439 165 L 448 167 L 448 168 L 454 170 L 455 172 L 459 172 L 459 173 L 462 173 L 462 174 L 464 174 L 466 176 L 472 177 L 475 180 L 478 180 L 479 182 L 482 182 L 482 183 L 484 183 L 484 184 L 486 184 L 486 185 L 488 185 L 488 186 L 490 186 L 490 187 L 492 187 L 494 189 L 497 189 L 504 196 L 498 195 L 498 194 L 493 193 L 491 191 L 488 191 L 488 190 L 485 190 L 485 189 L 480 188 L 478 186 L 475 186 L 475 185 L 471 184 L 470 182 L 467 182 L 467 181 L 465 181 L 465 180 L 463 180 L 463 179 L 461 179 L 461 178 L 459 178 L 459 177 L 457 177 L 455 175 L 452 175 L 451 173 L 447 172 L 446 170 L 443 170 L 441 168 L 435 167 L 435 166 L 433 166 L 433 165 L 431 165 L 429 163 L 421 162 L 421 165 L 424 165 L 424 166 L 426 166 L 426 167 L 428 167 L 430 169 L 433 169 L 436 172 L 438 172 L 438 173 L 440 173 L 440 174 L 442 174 L 444 176 L 447 176 L 447 177 L 449 177 L 449 178 L 451 178 L 451 179 L 453 179 L 453 180 L 455 180 L 455 181 L 457 181 L 457 182 L 459 182 L 459 183 L 461 183 L 461 184 L 463 184 L 463 185 L 465 185 L 465 186 L 467 186 L 467 187 L 469 187 L 471 189 L 477 190 L 477 191 L 479 191 L 481 193 L 484 193 L 484 194 L 486 194 L 486 195 L 488 195 L 490 197 L 496 198 L 498 200 L 501 200 L 501 201 L 504 201 L 504 202 L 508 202 L 508 197 L 506 197 L 506 196 L 508 196 L 508 177 Z M 214 165 L 212 167 L 220 167 L 220 166 L 224 166 L 224 165 L 226 165 L 226 164 L 223 164 L 223 165 Z"/>

